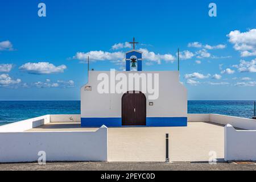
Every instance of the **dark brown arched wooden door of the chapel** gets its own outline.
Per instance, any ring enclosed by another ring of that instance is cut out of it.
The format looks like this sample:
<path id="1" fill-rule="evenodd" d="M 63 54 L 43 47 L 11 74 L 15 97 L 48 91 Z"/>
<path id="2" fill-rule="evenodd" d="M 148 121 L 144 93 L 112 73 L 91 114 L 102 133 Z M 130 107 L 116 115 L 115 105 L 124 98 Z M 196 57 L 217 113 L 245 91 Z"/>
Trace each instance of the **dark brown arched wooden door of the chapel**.
<path id="1" fill-rule="evenodd" d="M 146 97 L 143 93 L 123 94 L 122 125 L 146 125 Z"/>

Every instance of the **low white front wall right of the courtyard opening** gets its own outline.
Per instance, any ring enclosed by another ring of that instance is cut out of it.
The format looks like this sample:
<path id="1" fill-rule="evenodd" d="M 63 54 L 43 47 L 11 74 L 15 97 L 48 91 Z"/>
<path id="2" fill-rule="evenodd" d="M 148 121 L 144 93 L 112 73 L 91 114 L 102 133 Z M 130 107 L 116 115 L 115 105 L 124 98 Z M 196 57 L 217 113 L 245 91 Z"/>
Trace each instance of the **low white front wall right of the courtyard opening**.
<path id="1" fill-rule="evenodd" d="M 256 130 L 225 126 L 225 160 L 256 160 Z"/>

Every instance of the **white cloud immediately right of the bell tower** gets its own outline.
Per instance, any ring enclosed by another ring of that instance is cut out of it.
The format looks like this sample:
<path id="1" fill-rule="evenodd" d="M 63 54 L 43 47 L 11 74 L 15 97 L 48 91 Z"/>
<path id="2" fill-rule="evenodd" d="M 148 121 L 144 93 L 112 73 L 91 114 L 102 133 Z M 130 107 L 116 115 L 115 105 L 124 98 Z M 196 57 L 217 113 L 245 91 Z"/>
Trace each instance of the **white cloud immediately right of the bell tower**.
<path id="1" fill-rule="evenodd" d="M 173 63 L 175 61 L 175 56 L 166 53 L 164 55 L 161 55 L 159 53 L 150 52 L 148 49 L 140 48 L 139 51 L 143 52 L 143 60 L 149 61 L 150 63 L 158 63 L 161 64 L 161 60 L 166 62 Z"/>

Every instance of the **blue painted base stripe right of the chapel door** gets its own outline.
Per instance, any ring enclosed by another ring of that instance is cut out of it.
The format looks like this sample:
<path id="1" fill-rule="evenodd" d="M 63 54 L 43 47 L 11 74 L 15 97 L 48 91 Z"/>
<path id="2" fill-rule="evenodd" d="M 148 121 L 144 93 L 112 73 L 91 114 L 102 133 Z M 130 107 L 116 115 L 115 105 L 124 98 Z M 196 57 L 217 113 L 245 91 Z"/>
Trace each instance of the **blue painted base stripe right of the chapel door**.
<path id="1" fill-rule="evenodd" d="M 187 126 L 187 117 L 150 117 L 147 126 Z"/>

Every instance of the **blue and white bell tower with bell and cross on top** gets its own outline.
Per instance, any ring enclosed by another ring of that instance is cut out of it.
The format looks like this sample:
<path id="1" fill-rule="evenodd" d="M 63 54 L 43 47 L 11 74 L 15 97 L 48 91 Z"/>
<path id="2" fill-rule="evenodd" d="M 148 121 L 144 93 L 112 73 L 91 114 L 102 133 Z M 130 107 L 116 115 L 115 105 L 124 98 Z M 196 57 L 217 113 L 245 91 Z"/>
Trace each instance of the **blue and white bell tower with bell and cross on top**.
<path id="1" fill-rule="evenodd" d="M 133 44 L 133 50 L 125 53 L 126 60 L 126 71 L 142 71 L 142 52 L 135 50 L 135 39 L 133 38 L 133 42 L 129 42 Z"/>

